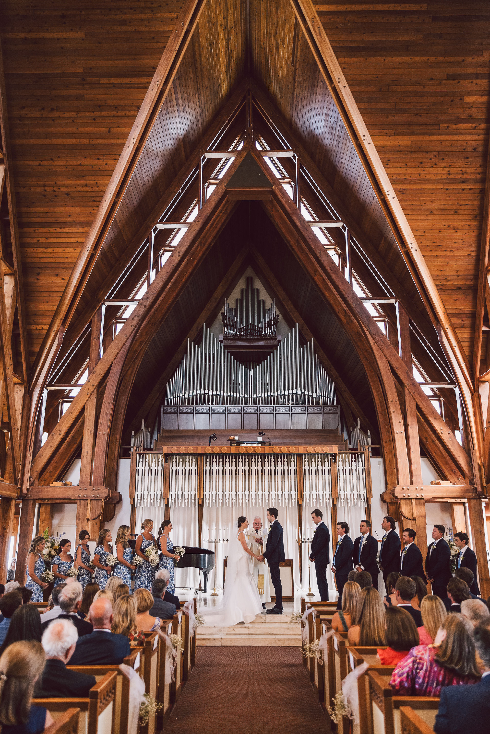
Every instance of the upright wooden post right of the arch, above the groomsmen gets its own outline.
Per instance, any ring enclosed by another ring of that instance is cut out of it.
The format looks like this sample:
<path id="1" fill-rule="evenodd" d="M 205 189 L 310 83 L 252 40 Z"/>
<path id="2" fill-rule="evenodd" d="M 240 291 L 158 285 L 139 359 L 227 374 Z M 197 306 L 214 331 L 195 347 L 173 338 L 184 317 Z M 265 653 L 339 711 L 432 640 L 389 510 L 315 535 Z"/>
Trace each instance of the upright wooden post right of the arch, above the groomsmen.
<path id="1" fill-rule="evenodd" d="M 398 323 L 398 353 L 406 364 L 410 374 L 414 374 L 411 358 L 410 322 L 408 313 L 397 302 Z M 411 484 L 422 484 L 422 467 L 420 464 L 419 429 L 417 427 L 417 403 L 406 385 L 403 385 L 403 396 L 405 398 L 406 440 L 408 464 L 410 467 Z"/>

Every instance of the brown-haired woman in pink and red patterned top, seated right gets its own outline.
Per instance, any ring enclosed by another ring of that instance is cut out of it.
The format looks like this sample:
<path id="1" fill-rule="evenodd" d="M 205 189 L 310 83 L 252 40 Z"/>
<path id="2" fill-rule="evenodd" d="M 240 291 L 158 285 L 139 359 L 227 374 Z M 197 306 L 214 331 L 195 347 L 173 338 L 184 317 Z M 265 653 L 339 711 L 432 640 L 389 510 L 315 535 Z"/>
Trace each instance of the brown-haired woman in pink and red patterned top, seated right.
<path id="1" fill-rule="evenodd" d="M 434 644 L 412 647 L 397 664 L 389 681 L 393 694 L 436 697 L 444 686 L 478 683 L 472 631 L 461 614 L 447 614 Z"/>

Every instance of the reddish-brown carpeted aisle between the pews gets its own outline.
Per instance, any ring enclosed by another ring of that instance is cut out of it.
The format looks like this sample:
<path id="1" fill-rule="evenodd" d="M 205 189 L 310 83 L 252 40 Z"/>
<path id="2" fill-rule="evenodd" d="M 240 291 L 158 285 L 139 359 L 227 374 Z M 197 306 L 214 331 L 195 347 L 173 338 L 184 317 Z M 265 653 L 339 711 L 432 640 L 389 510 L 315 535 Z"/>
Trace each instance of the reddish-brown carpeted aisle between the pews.
<path id="1" fill-rule="evenodd" d="M 165 734 L 325 734 L 299 647 L 198 647 Z"/>

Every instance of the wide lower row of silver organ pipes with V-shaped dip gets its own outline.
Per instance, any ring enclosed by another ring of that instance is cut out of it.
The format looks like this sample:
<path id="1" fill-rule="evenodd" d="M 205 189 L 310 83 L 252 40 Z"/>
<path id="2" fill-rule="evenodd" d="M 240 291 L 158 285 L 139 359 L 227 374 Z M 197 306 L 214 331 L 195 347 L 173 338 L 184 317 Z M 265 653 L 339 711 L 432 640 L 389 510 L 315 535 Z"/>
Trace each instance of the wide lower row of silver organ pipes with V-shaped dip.
<path id="1" fill-rule="evenodd" d="M 206 324 L 201 345 L 187 340 L 167 382 L 165 405 L 335 405 L 335 385 L 314 351 L 300 346 L 298 324 L 262 363 L 242 364 Z"/>

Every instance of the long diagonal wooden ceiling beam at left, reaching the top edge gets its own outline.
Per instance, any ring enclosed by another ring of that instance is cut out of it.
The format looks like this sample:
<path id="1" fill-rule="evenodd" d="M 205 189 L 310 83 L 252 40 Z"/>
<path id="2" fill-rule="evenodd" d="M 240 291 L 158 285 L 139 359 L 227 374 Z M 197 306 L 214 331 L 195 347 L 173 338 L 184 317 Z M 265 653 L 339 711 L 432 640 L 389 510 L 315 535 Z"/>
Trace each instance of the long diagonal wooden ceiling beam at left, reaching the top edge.
<path id="1" fill-rule="evenodd" d="M 162 104 L 167 97 L 167 93 L 179 69 L 181 59 L 184 57 L 192 33 L 198 23 L 204 3 L 205 0 L 184 0 L 184 5 L 179 13 L 175 29 L 168 40 L 167 46 L 165 46 L 165 51 L 156 68 L 154 78 L 151 81 L 148 92 L 146 92 L 136 120 L 134 120 L 126 145 L 120 154 L 104 197 L 102 197 L 96 218 L 90 227 L 82 250 L 68 279 L 65 291 L 57 305 L 57 310 L 54 313 L 53 319 L 51 319 L 51 324 L 43 339 L 39 354 L 36 357 L 35 370 L 32 378 L 32 382 L 35 385 L 40 380 L 44 363 L 51 351 L 52 344 L 57 339 L 60 327 L 66 330 L 76 305 L 82 296 L 84 285 L 87 283 L 90 272 L 96 263 L 98 253 L 104 244 L 104 239 L 118 211 L 118 206 L 126 191 L 126 187 L 131 180 L 137 162 L 140 160 L 156 117 L 162 108 Z"/>

